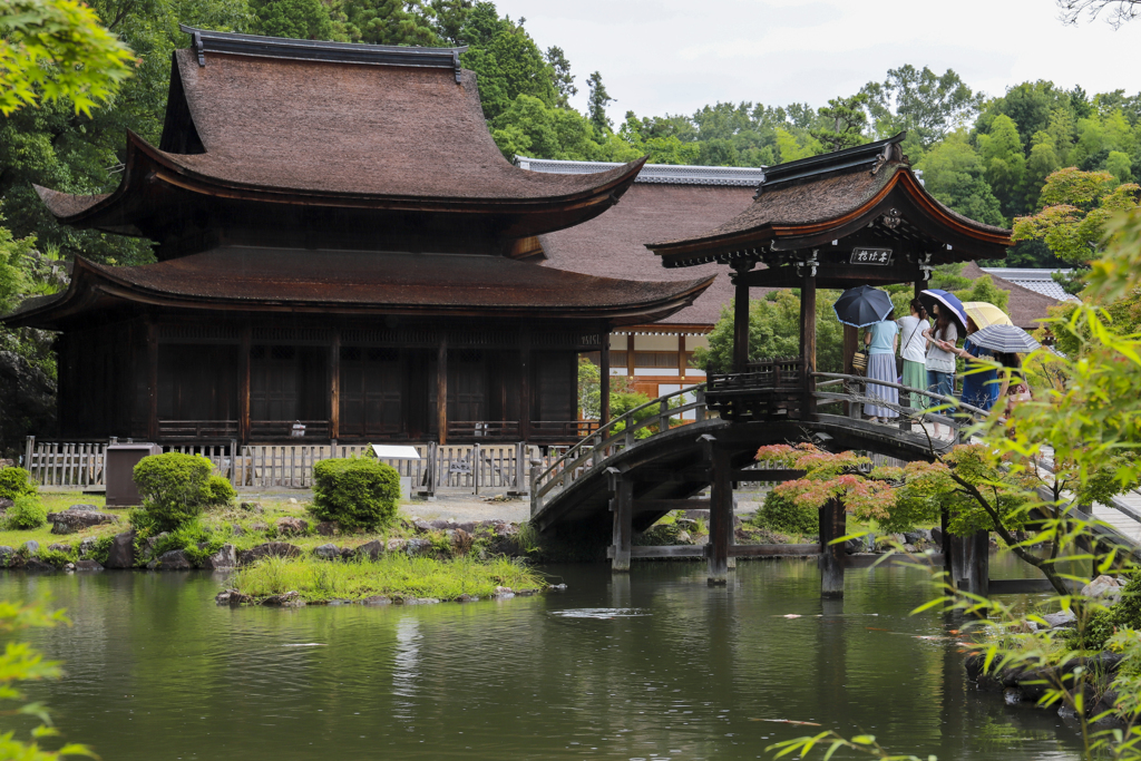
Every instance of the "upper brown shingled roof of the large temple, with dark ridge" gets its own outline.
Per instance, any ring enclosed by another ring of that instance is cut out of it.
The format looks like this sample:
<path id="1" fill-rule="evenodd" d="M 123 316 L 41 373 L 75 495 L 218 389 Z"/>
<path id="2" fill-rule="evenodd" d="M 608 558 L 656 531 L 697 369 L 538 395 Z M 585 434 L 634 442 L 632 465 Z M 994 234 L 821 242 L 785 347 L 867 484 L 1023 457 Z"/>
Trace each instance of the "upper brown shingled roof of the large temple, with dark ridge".
<path id="1" fill-rule="evenodd" d="M 476 75 L 459 68 L 461 49 L 184 29 L 196 44 L 173 54 L 159 146 L 128 136 L 114 193 L 38 188 L 62 221 L 161 240 L 168 210 L 209 197 L 497 214 L 496 234 L 513 238 L 601 213 L 642 164 L 565 176 L 513 167 L 487 131 Z"/>

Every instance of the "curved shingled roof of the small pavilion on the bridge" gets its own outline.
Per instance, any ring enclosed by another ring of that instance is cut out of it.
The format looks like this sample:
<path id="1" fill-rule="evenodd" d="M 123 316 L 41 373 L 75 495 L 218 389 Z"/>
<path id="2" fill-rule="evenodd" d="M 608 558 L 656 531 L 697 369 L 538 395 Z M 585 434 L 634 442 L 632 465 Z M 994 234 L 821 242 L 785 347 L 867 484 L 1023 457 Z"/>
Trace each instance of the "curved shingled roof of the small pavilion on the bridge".
<path id="1" fill-rule="evenodd" d="M 647 243 L 646 248 L 662 256 L 666 267 L 688 267 L 738 252 L 752 256 L 819 245 L 815 241 L 822 236 L 842 237 L 873 221 L 885 211 L 879 207 L 889 197 L 907 200 L 912 209 L 905 218 L 922 224 L 928 236 L 938 230 L 992 251 L 1010 245 L 1009 229 L 969 219 L 931 196 L 899 152 L 901 139 L 898 135 L 768 168 L 753 204 L 729 221 L 694 237 Z"/>

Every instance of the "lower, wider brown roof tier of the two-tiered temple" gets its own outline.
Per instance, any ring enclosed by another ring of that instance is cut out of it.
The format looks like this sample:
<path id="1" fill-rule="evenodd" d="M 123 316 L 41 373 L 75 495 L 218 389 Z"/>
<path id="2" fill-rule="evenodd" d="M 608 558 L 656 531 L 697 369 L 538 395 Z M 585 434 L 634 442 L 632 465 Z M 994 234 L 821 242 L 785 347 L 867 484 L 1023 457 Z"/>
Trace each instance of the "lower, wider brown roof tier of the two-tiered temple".
<path id="1" fill-rule="evenodd" d="M 75 262 L 63 293 L 30 299 L 9 325 L 58 330 L 97 303 L 357 315 L 606 318 L 632 324 L 688 307 L 712 277 L 639 282 L 502 257 L 226 248 L 137 267 Z"/>

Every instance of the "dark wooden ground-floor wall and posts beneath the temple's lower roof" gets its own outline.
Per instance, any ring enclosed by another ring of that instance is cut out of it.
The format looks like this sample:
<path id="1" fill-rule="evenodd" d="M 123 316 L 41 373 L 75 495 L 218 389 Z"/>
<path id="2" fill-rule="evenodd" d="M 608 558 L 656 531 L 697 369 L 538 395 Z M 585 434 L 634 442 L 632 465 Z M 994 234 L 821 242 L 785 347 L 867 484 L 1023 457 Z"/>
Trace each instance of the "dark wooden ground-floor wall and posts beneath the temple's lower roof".
<path id="1" fill-rule="evenodd" d="M 341 440 L 438 439 L 438 348 L 430 342 L 439 327 L 400 334 L 421 346 L 370 346 L 398 332 L 308 321 L 259 327 L 136 315 L 70 330 L 57 345 L 62 434 L 228 440 L 249 430 L 249 440 L 277 440 L 293 421 L 302 421 L 311 423 L 308 438 L 335 431 Z M 592 347 L 577 345 L 573 329 L 515 324 L 479 333 L 466 324 L 466 331 L 447 351 L 450 422 L 505 423 L 497 435 L 524 437 L 525 419 L 576 419 L 577 356 Z M 479 341 L 487 346 L 462 345 Z M 525 348 L 532 342 L 536 348 Z M 241 423 L 245 367 L 248 427 Z M 195 421 L 225 424 L 195 432 Z M 471 427 L 452 435 L 461 440 L 472 435 Z"/>

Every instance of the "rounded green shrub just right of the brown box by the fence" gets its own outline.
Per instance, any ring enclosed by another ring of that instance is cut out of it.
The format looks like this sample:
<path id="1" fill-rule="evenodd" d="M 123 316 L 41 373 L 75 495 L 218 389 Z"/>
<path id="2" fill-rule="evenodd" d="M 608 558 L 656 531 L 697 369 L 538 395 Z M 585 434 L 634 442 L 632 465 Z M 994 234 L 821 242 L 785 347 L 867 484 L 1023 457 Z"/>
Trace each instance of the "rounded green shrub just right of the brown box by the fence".
<path id="1" fill-rule="evenodd" d="M 131 512 L 131 525 L 144 534 L 173 531 L 196 518 L 218 499 L 212 487 L 213 463 L 195 454 L 152 454 L 135 465 L 135 485 L 143 509 Z"/>

